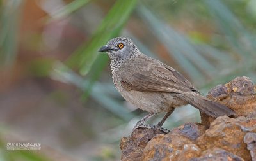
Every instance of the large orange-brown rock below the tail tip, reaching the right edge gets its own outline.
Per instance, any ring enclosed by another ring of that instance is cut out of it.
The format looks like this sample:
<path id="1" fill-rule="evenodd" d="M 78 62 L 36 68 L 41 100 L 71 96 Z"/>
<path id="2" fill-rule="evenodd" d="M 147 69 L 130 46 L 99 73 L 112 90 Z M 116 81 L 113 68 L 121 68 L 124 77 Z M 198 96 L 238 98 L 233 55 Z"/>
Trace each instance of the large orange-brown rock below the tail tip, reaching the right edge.
<path id="1" fill-rule="evenodd" d="M 243 142 L 246 132 L 256 132 L 256 119 L 240 116 L 236 119 L 228 116 L 216 118 L 210 128 L 196 139 L 196 144 L 204 151 L 210 148 L 222 148 L 244 160 L 250 160 L 250 152 Z"/>

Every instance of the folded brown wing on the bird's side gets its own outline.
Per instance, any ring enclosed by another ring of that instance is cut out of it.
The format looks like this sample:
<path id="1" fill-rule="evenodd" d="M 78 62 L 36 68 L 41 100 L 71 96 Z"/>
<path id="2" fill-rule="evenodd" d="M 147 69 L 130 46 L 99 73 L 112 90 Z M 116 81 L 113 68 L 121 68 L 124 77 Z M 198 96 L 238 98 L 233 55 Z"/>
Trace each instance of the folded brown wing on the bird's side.
<path id="1" fill-rule="evenodd" d="M 173 92 L 187 94 L 198 90 L 179 72 L 172 67 L 151 66 L 144 71 L 132 71 L 122 74 L 121 85 L 125 90 L 141 92 Z"/>

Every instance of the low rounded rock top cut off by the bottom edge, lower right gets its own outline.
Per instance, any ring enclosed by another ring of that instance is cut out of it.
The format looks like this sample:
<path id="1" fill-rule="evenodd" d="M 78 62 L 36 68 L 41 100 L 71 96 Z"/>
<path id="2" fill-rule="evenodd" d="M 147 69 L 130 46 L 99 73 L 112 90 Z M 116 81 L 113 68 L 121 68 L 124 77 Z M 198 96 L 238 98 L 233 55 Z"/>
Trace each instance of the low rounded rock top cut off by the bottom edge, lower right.
<path id="1" fill-rule="evenodd" d="M 234 155 L 234 153 L 227 152 L 219 148 L 206 150 L 202 153 L 202 157 L 192 158 L 189 161 L 213 161 L 213 160 L 227 160 L 227 161 L 243 161 L 243 158 Z"/>

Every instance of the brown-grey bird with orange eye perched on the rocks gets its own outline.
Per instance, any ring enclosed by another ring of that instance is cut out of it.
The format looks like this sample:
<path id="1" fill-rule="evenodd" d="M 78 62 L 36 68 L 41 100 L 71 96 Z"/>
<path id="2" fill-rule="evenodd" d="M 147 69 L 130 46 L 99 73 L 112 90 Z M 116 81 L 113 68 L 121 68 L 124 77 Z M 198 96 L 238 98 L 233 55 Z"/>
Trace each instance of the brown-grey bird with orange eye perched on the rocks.
<path id="1" fill-rule="evenodd" d="M 170 130 L 164 129 L 163 123 L 176 107 L 186 104 L 191 104 L 214 118 L 236 115 L 233 109 L 202 96 L 173 67 L 142 53 L 129 38 L 113 38 L 99 48 L 98 52 L 108 54 L 113 83 L 122 97 L 148 112 L 148 115 L 136 123 L 132 132 L 138 127 L 146 127 L 168 133 Z M 156 125 L 143 124 L 152 116 L 163 112 L 166 114 Z"/>

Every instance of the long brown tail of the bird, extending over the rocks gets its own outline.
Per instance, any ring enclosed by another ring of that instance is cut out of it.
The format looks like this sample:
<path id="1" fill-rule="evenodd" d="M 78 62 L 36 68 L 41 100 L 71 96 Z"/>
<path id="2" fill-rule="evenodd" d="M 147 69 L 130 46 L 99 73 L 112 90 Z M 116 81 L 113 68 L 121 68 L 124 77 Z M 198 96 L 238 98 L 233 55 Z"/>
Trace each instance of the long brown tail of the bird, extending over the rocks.
<path id="1" fill-rule="evenodd" d="M 228 108 L 227 106 L 220 104 L 218 102 L 212 101 L 211 99 L 208 99 L 202 95 L 179 95 L 180 99 L 183 99 L 184 101 L 187 101 L 189 104 L 194 106 L 195 108 L 198 108 L 201 112 L 212 116 L 212 117 L 218 117 L 218 116 L 233 116 L 236 115 L 236 112 Z"/>

